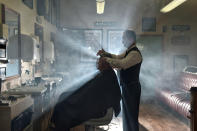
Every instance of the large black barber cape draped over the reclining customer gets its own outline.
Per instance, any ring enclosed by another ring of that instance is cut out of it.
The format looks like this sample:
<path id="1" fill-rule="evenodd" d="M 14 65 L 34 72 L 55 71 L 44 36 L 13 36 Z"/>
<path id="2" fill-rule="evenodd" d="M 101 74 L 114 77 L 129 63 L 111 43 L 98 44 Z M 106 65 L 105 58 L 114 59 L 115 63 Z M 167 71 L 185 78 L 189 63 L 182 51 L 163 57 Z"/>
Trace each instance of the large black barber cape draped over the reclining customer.
<path id="1" fill-rule="evenodd" d="M 52 122 L 56 130 L 67 131 L 89 119 L 104 116 L 113 107 L 115 115 L 120 112 L 121 92 L 115 72 L 112 69 L 100 72 L 82 87 L 65 97 L 55 106 Z"/>

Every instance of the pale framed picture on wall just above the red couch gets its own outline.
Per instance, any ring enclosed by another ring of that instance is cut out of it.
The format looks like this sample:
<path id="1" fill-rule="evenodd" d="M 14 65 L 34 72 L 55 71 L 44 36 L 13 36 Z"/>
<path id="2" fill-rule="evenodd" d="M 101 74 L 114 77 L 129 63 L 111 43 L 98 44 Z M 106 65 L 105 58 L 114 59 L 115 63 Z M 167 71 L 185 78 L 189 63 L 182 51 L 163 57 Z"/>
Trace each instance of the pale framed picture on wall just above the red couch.
<path id="1" fill-rule="evenodd" d="M 188 55 L 175 55 L 174 56 L 174 72 L 181 72 L 189 64 Z"/>

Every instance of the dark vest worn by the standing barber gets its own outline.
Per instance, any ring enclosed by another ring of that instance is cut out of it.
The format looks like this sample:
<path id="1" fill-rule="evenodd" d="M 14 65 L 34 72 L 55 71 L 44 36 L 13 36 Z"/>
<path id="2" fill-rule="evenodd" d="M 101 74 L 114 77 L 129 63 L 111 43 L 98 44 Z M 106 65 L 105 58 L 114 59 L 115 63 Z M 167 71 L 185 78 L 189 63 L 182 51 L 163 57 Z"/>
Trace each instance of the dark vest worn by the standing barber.
<path id="1" fill-rule="evenodd" d="M 126 54 L 124 57 L 126 57 L 131 51 L 137 51 L 141 55 L 139 49 L 137 47 L 134 47 L 128 51 L 126 51 Z M 141 55 L 142 57 L 142 55 Z M 131 66 L 128 69 L 122 69 L 120 70 L 120 82 L 121 84 L 135 84 L 139 82 L 139 74 L 140 74 L 140 67 L 141 67 L 142 61 L 134 66 Z"/>

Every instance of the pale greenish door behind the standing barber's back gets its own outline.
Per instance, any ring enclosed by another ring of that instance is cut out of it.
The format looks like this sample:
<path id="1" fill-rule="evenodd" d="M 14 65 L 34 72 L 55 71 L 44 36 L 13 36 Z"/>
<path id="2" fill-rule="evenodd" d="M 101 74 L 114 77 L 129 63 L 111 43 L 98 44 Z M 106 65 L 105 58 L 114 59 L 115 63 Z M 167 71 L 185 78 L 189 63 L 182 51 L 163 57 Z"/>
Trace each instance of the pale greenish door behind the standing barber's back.
<path id="1" fill-rule="evenodd" d="M 140 72 L 141 98 L 142 100 L 149 100 L 154 97 L 154 89 L 157 88 L 157 78 L 162 73 L 163 36 L 138 36 L 137 47 L 143 56 Z"/>

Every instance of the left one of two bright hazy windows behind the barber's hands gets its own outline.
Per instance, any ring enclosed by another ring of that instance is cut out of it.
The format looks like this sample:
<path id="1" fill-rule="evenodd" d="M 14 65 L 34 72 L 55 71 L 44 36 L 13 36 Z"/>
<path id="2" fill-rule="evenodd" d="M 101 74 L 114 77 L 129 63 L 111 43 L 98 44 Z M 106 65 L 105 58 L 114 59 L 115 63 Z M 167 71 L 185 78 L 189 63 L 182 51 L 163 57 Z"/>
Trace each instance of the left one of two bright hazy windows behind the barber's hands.
<path id="1" fill-rule="evenodd" d="M 102 29 L 64 29 L 66 41 L 72 48 L 67 50 L 68 54 L 80 59 L 81 62 L 95 60 L 96 52 L 102 48 L 103 30 Z M 67 48 L 68 49 L 68 48 Z M 61 50 L 61 49 L 60 49 Z M 76 52 L 77 50 L 77 52 Z M 73 52 L 76 52 L 73 54 Z"/>

